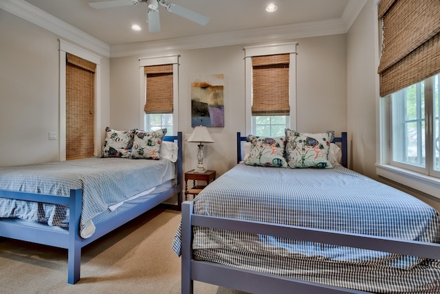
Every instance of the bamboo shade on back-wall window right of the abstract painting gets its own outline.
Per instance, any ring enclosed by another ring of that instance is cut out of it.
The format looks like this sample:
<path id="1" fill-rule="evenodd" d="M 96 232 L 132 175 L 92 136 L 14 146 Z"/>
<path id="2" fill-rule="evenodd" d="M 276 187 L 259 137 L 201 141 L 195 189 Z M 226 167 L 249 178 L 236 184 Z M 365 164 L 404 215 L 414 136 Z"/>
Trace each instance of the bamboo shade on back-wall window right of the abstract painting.
<path id="1" fill-rule="evenodd" d="M 252 115 L 289 115 L 289 54 L 252 57 Z"/>

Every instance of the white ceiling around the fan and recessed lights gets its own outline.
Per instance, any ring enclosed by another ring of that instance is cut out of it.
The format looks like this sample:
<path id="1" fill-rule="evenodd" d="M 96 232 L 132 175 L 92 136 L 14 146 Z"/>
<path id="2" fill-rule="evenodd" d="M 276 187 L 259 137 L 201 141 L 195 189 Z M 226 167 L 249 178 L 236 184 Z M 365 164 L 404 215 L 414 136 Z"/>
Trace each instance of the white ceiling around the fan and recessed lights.
<path id="1" fill-rule="evenodd" d="M 349 0 L 274 0 L 272 3 L 278 5 L 278 10 L 269 13 L 265 11 L 265 5 L 271 2 L 268 0 L 168 0 L 167 3 L 209 16 L 210 22 L 199 25 L 159 7 L 162 30 L 153 34 L 148 32 L 146 3 L 96 10 L 88 3 L 98 0 L 26 1 L 109 45 L 340 19 L 349 3 Z M 142 30 L 131 30 L 133 23 Z"/>

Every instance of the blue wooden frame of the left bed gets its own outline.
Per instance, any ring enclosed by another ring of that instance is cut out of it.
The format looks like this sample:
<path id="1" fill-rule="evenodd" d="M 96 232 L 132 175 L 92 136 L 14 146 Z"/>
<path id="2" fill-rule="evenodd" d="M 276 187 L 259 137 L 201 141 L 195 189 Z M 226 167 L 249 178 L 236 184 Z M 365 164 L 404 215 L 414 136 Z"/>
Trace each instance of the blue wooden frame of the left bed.
<path id="1" fill-rule="evenodd" d="M 96 225 L 96 231 L 94 235 L 90 238 L 83 239 L 80 237 L 79 234 L 79 223 L 83 195 L 83 191 L 81 189 L 71 190 L 69 197 L 0 190 L 0 197 L 20 199 L 25 201 L 35 201 L 36 197 L 38 197 L 39 202 L 68 205 L 70 210 L 68 230 L 53 229 L 51 227 L 43 225 L 41 227 L 29 227 L 24 223 L 17 223 L 15 221 L 9 220 L 8 218 L 1 218 L 0 236 L 67 249 L 67 282 L 69 284 L 75 284 L 76 282 L 78 282 L 78 280 L 80 280 L 81 249 L 83 247 L 158 205 L 167 209 L 181 210 L 181 176 L 183 158 L 182 134 L 181 132 L 179 132 L 177 133 L 177 136 L 166 136 L 164 137 L 164 140 L 169 142 L 176 142 L 179 148 L 178 158 L 176 162 L 177 185 L 173 186 L 173 188 L 170 188 L 169 190 L 157 194 L 157 196 L 148 199 L 144 203 L 136 205 L 130 210 L 126 210 L 125 212 L 116 214 L 113 218 L 105 220 L 103 223 L 99 223 L 98 225 Z M 177 195 L 176 205 L 162 204 L 164 201 L 170 199 L 170 197 L 174 195 Z"/>

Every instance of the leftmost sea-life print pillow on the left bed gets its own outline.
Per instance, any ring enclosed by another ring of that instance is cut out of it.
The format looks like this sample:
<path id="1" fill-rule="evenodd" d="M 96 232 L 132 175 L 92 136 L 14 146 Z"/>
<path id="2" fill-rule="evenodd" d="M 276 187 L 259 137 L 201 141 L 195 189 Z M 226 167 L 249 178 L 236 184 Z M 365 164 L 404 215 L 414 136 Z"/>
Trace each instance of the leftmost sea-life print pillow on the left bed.
<path id="1" fill-rule="evenodd" d="M 101 157 L 129 158 L 131 155 L 131 147 L 133 146 L 134 130 L 115 131 L 107 126 L 105 133 Z"/>

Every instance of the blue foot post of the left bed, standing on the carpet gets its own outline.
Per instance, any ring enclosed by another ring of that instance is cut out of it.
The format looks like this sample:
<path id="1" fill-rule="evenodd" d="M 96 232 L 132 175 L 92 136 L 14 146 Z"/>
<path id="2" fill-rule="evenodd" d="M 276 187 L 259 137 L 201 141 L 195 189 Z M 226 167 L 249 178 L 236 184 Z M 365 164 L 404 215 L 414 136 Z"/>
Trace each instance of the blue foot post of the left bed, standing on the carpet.
<path id="1" fill-rule="evenodd" d="M 70 190 L 69 199 L 69 248 L 67 248 L 67 282 L 75 284 L 80 280 L 81 267 L 81 237 L 80 215 L 83 190 Z"/>

